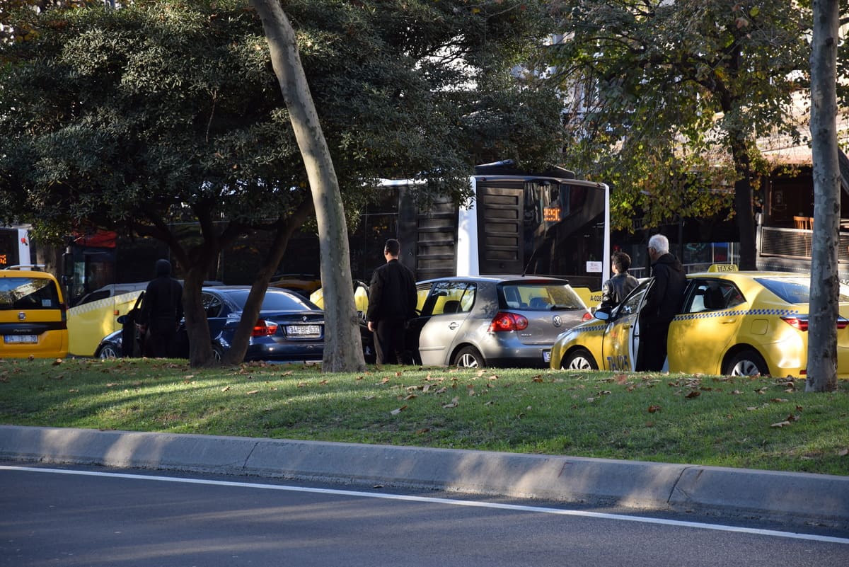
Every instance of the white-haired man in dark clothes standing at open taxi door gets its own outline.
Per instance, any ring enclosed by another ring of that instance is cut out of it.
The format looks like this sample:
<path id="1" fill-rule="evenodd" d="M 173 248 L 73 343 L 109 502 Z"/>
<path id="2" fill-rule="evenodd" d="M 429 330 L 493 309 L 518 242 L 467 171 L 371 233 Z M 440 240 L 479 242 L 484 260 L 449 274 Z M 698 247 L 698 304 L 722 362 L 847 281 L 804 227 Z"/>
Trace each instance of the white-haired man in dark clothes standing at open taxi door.
<path id="1" fill-rule="evenodd" d="M 655 234 L 649 239 L 651 283 L 639 312 L 639 354 L 637 370 L 663 370 L 666 339 L 672 318 L 681 311 L 687 278 L 683 266 L 669 252 L 669 239 Z"/>

